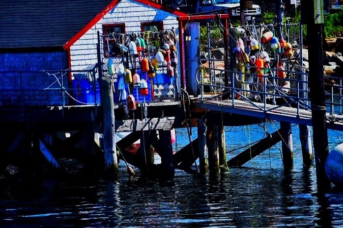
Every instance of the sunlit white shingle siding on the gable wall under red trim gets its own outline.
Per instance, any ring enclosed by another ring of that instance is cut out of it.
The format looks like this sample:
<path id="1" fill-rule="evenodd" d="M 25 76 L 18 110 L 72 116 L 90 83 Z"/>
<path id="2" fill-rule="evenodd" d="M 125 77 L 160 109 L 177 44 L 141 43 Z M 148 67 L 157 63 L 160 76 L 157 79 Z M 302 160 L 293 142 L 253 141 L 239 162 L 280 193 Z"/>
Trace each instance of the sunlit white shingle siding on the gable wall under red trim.
<path id="1" fill-rule="evenodd" d="M 102 25 L 125 23 L 125 30 L 141 32 L 142 22 L 163 21 L 164 29 L 177 29 L 178 23 L 174 14 L 155 9 L 149 5 L 134 1 L 121 0 L 96 25 L 92 26 L 70 48 L 72 70 L 82 70 L 97 62 L 97 32 L 102 34 Z"/>

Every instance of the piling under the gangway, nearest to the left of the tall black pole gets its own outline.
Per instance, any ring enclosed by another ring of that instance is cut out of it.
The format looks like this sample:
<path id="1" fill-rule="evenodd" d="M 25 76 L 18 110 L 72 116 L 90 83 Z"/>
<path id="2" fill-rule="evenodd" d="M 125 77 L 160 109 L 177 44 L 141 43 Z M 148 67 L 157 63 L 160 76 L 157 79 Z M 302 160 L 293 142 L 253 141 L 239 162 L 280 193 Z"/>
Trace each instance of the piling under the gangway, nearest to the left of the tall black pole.
<path id="1" fill-rule="evenodd" d="M 313 152 L 310 127 L 299 125 L 299 138 L 301 143 L 301 151 L 303 154 L 303 165 L 311 167 L 313 165 Z"/>

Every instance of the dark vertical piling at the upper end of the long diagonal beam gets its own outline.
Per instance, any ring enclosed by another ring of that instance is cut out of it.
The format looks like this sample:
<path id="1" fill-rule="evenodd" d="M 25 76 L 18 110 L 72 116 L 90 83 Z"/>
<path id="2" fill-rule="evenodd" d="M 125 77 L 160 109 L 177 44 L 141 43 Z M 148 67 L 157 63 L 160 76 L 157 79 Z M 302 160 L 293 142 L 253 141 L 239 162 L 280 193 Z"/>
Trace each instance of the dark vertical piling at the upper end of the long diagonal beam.
<path id="1" fill-rule="evenodd" d="M 280 122 L 282 156 L 285 169 L 293 168 L 293 139 L 291 123 Z"/>

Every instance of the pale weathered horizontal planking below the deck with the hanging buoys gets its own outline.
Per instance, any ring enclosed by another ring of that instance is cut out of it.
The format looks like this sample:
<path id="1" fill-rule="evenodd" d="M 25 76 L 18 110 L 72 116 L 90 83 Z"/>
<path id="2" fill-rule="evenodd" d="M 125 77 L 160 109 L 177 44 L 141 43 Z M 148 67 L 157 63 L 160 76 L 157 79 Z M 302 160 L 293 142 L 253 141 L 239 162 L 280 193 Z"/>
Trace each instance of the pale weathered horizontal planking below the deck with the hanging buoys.
<path id="1" fill-rule="evenodd" d="M 115 131 L 170 130 L 174 121 L 175 117 L 116 120 Z"/>

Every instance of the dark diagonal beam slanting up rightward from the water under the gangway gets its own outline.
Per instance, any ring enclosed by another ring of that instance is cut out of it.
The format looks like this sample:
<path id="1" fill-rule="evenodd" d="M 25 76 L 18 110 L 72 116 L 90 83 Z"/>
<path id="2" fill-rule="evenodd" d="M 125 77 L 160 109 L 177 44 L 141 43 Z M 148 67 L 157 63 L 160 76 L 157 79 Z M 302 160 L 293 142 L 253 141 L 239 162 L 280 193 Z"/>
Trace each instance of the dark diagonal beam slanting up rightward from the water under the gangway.
<path id="1" fill-rule="evenodd" d="M 227 162 L 227 166 L 233 167 L 233 166 L 242 166 L 246 162 L 250 161 L 254 157 L 256 157 L 261 152 L 264 152 L 265 150 L 271 148 L 275 144 L 281 141 L 281 135 L 280 132 L 281 129 L 271 133 L 261 141 L 257 142 L 247 150 L 241 152 L 237 156 L 231 158 Z"/>

